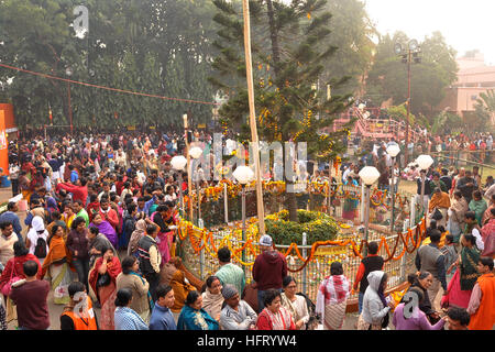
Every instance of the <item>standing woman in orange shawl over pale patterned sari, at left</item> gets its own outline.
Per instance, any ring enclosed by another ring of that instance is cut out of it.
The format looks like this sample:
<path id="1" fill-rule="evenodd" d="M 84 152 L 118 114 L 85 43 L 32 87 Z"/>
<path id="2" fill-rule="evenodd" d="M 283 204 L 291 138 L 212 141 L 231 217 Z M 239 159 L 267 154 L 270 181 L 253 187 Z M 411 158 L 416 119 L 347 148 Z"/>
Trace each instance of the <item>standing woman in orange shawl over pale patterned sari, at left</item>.
<path id="1" fill-rule="evenodd" d="M 70 268 L 67 264 L 69 252 L 65 245 L 64 233 L 62 226 L 53 226 L 48 254 L 42 266 L 42 276 L 46 275 L 52 284 L 55 305 L 67 305 L 70 301 L 68 285 L 72 278 Z"/>

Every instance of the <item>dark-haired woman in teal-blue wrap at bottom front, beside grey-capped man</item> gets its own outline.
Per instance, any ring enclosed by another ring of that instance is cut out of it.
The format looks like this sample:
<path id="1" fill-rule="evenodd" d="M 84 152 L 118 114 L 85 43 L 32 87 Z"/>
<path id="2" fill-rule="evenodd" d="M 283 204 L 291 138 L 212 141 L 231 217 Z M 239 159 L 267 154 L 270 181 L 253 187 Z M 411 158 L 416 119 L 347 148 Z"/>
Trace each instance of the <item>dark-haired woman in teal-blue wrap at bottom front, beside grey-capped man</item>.
<path id="1" fill-rule="evenodd" d="M 202 296 L 193 290 L 180 310 L 177 330 L 218 330 L 219 323 L 202 308 Z"/>

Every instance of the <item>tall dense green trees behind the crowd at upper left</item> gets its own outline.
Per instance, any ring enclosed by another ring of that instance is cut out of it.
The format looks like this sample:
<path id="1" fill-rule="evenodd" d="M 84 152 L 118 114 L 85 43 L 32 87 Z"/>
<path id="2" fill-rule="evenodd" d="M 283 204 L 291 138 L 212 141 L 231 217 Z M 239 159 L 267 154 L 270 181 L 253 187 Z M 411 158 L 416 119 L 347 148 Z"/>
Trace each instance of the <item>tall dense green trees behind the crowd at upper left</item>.
<path id="1" fill-rule="evenodd" d="M 173 98 L 212 101 L 212 4 L 195 0 L 87 0 L 89 35 L 75 36 L 77 0 L 0 1 L 0 61 L 74 80 Z M 7 99 L 19 127 L 68 124 L 68 87 L 57 80 L 0 68 Z M 75 125 L 143 127 L 182 123 L 189 111 L 196 123 L 211 118 L 211 106 L 162 100 L 70 85 Z M 6 99 L 6 100 L 7 100 Z M 3 99 L 2 99 L 3 100 Z M 116 121 L 114 112 L 119 119 Z"/>

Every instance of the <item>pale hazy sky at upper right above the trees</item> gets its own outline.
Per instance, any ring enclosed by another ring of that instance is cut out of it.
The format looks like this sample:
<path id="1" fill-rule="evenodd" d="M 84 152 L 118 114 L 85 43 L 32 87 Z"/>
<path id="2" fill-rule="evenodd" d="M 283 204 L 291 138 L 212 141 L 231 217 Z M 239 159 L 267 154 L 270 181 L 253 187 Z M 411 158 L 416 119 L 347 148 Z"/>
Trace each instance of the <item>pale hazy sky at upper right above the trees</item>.
<path id="1" fill-rule="evenodd" d="M 495 0 L 364 0 L 382 34 L 403 31 L 421 42 L 440 31 L 458 56 L 480 50 L 495 65 Z"/>

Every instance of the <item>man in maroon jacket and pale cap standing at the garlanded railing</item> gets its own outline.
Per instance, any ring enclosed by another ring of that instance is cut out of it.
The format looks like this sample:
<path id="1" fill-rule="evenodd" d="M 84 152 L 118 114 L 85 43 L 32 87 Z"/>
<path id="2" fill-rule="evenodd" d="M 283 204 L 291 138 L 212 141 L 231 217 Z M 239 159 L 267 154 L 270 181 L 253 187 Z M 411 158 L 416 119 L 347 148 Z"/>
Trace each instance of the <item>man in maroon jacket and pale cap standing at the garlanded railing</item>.
<path id="1" fill-rule="evenodd" d="M 264 293 L 270 288 L 282 293 L 282 280 L 287 276 L 285 256 L 273 249 L 273 240 L 268 234 L 260 239 L 262 253 L 256 256 L 253 265 L 253 279 L 256 282 L 258 312 L 263 310 Z"/>

